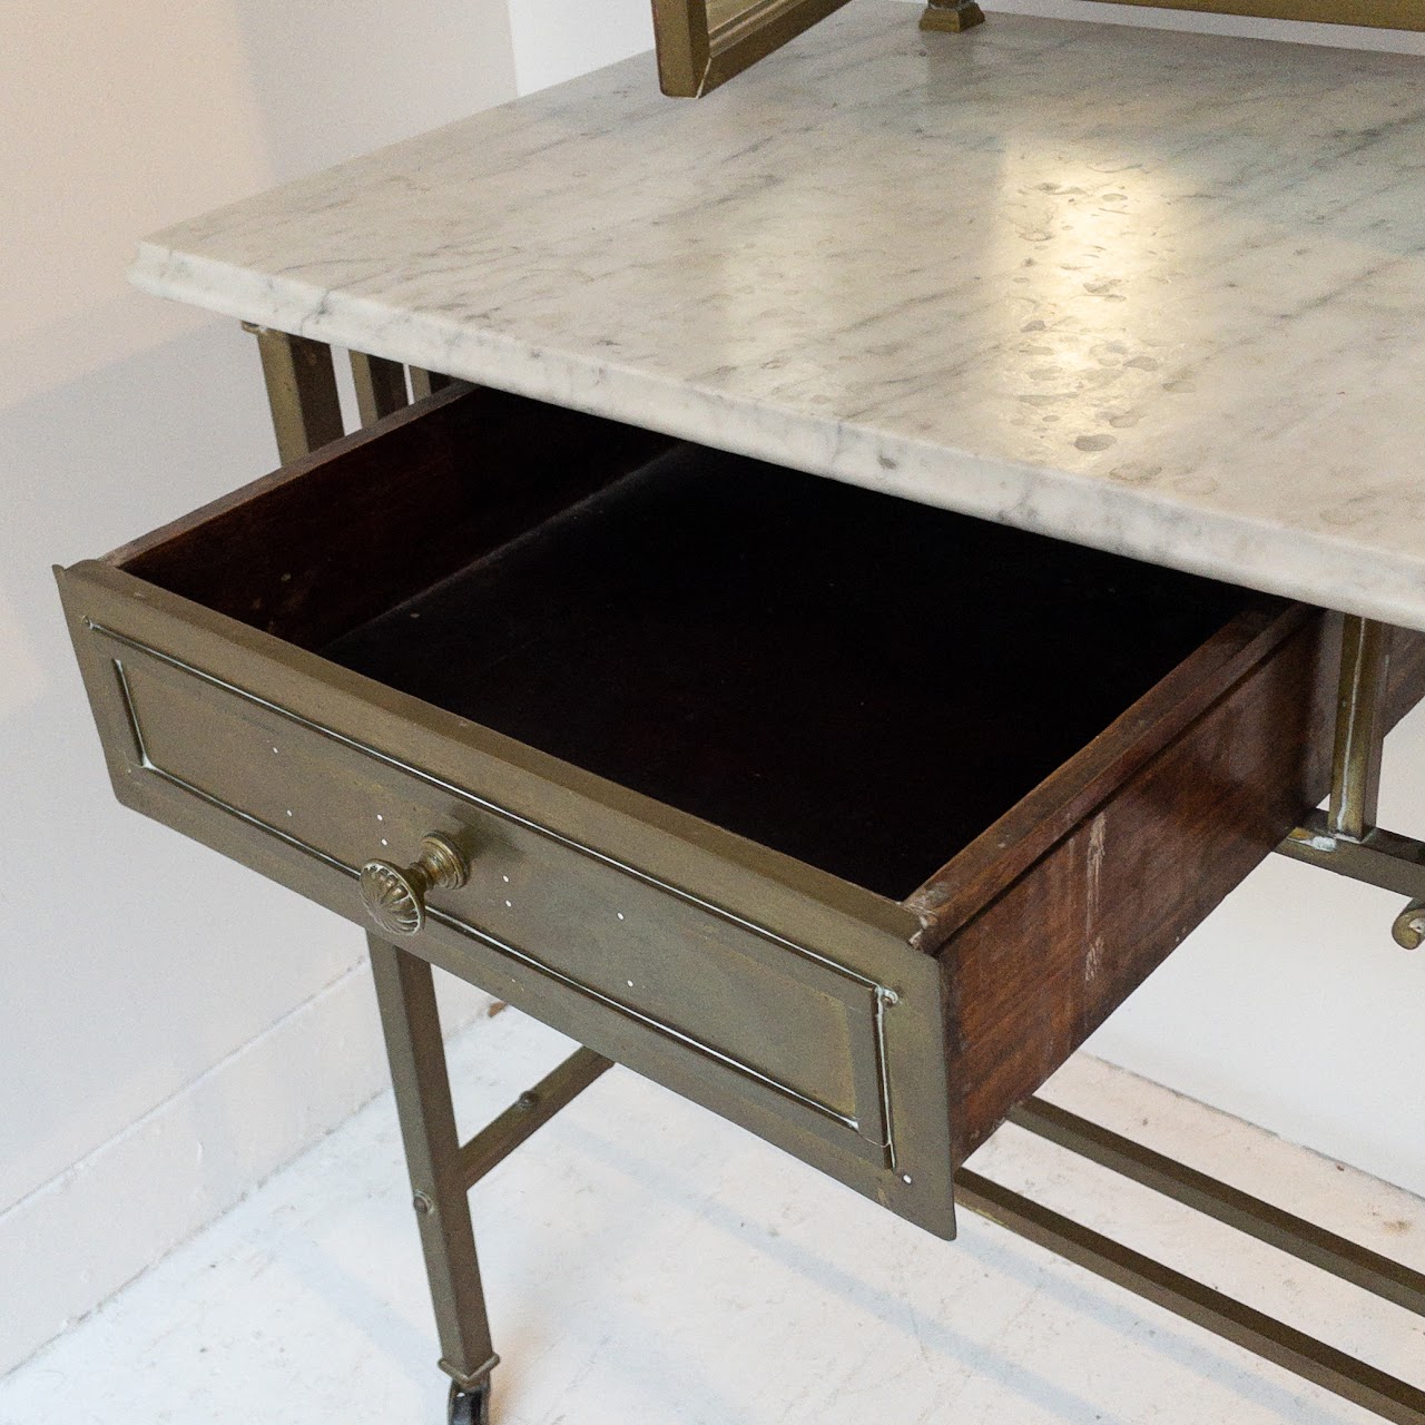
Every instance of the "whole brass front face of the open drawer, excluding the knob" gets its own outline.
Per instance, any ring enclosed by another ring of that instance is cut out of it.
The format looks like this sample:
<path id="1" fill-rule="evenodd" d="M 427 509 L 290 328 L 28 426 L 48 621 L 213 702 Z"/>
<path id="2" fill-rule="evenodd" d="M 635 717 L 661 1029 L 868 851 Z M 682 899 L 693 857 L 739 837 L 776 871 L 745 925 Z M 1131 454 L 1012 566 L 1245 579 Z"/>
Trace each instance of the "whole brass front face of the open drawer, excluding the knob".
<path id="1" fill-rule="evenodd" d="M 933 960 L 845 963 L 118 621 L 77 640 L 123 799 L 365 928 L 365 861 L 456 839 L 470 879 L 412 950 L 952 1233 Z"/>

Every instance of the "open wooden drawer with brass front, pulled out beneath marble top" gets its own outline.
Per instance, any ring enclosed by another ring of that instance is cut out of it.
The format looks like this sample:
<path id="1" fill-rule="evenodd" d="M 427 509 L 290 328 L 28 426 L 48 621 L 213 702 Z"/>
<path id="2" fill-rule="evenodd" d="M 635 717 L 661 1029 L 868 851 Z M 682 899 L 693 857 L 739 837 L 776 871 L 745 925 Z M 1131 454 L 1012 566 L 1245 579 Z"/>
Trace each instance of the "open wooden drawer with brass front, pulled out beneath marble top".
<path id="1" fill-rule="evenodd" d="M 942 1235 L 1330 761 L 1320 610 L 494 390 L 58 579 L 121 801 Z"/>

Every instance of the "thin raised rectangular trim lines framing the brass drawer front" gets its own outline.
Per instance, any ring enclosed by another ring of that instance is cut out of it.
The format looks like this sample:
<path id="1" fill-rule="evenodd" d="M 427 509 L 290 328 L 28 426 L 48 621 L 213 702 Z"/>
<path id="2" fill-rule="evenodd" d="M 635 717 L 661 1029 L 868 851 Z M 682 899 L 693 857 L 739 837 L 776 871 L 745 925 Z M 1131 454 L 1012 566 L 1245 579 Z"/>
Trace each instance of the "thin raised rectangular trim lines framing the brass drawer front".
<path id="1" fill-rule="evenodd" d="M 879 1107 L 882 1114 L 882 1123 L 885 1127 L 885 1134 L 884 1134 L 885 1141 L 881 1143 L 881 1147 L 884 1147 L 886 1151 L 889 1170 L 891 1171 L 896 1170 L 898 1157 L 895 1144 L 893 1117 L 891 1112 L 891 1082 L 889 1082 L 889 1074 L 886 1072 L 886 1027 L 885 1027 L 885 1012 L 899 999 L 899 996 L 893 989 L 878 983 L 876 980 L 871 979 L 866 975 L 859 973 L 858 970 L 851 969 L 849 966 L 839 963 L 831 956 L 822 955 L 817 950 L 808 949 L 807 946 L 798 945 L 795 940 L 789 940 L 785 936 L 778 935 L 775 931 L 770 931 L 765 926 L 760 926 L 752 921 L 747 921 L 731 911 L 725 911 L 721 906 L 704 901 L 701 896 L 693 895 L 688 891 L 683 891 L 678 886 L 660 881 L 657 876 L 648 875 L 647 872 L 640 871 L 636 866 L 630 866 L 614 856 L 610 856 L 591 846 L 586 846 L 583 842 L 579 842 L 570 836 L 564 836 L 549 826 L 543 826 L 539 822 L 529 819 L 527 817 L 522 817 L 519 812 L 510 811 L 509 808 L 502 807 L 497 802 L 492 802 L 487 798 L 480 797 L 476 792 L 470 792 L 455 782 L 447 782 L 440 777 L 436 777 L 430 772 L 423 771 L 419 767 L 413 767 L 412 764 L 402 761 L 400 758 L 392 757 L 388 752 L 382 752 L 379 748 L 370 747 L 369 744 L 362 742 L 358 738 L 348 737 L 343 732 L 338 732 L 335 728 L 326 727 L 325 724 L 306 718 L 299 712 L 294 712 L 291 708 L 285 708 L 281 704 L 264 698 L 261 694 L 251 693 L 247 688 L 238 687 L 237 684 L 229 683 L 227 678 L 219 678 L 215 674 L 207 673 L 205 670 L 198 668 L 194 664 L 185 663 L 182 658 L 177 658 L 172 654 L 164 653 L 162 650 L 155 648 L 151 644 L 147 644 L 138 638 L 133 638 L 128 634 L 118 633 L 117 630 L 110 628 L 105 624 L 97 623 L 93 618 L 86 618 L 84 624 L 94 634 L 103 636 L 104 638 L 108 638 L 123 647 L 133 648 L 135 653 L 154 658 L 155 661 L 165 664 L 167 667 L 175 668 L 185 675 L 194 677 L 212 687 L 221 688 L 222 691 L 229 693 L 245 703 L 251 703 L 255 707 L 261 707 L 264 711 L 272 712 L 274 715 L 281 717 L 285 721 L 294 722 L 298 727 L 316 732 L 321 737 L 329 738 L 331 741 L 348 747 L 352 751 L 361 752 L 362 755 L 370 757 L 386 767 L 403 772 L 408 777 L 413 777 L 429 787 L 437 788 L 439 791 L 447 795 L 459 798 L 460 801 L 476 805 L 482 811 L 487 811 L 492 815 L 500 817 L 506 821 L 520 825 L 527 831 L 532 831 L 540 836 L 546 836 L 551 841 L 556 841 L 560 845 L 569 848 L 570 851 L 589 856 L 590 859 L 607 865 L 611 869 L 618 871 L 624 875 L 633 876 L 634 879 L 643 882 L 644 885 L 648 885 L 665 895 L 671 895 L 688 905 L 695 906 L 697 909 L 708 915 L 714 915 L 718 919 L 732 923 L 740 929 L 744 929 L 752 935 L 760 936 L 764 940 L 777 945 L 781 949 L 791 950 L 792 953 L 799 955 L 804 959 L 812 960 L 817 965 L 834 970 L 835 973 L 845 976 L 852 983 L 864 988 L 872 996 L 871 1012 L 872 1012 L 874 1054 L 875 1054 L 875 1069 L 876 1069 L 875 1082 L 879 1090 Z M 231 802 L 224 801 L 221 797 L 217 797 L 212 792 L 205 791 L 202 787 L 190 782 L 187 778 L 178 777 L 177 774 L 168 771 L 167 768 L 155 762 L 148 752 L 142 725 L 138 717 L 138 707 L 134 701 L 127 670 L 124 668 L 124 664 L 120 658 L 113 658 L 113 667 L 118 683 L 118 691 L 124 707 L 124 715 L 128 721 L 130 732 L 133 734 L 134 745 L 138 751 L 140 765 L 144 768 L 144 771 L 151 772 L 161 781 L 167 782 L 171 787 L 178 788 L 184 794 L 195 797 L 205 805 L 212 807 L 214 809 L 221 811 L 229 817 L 234 817 L 256 831 L 274 836 L 284 845 L 291 846 L 294 851 L 311 856 L 315 861 L 319 861 L 329 869 L 338 871 L 342 875 L 351 878 L 352 881 L 359 879 L 361 869 L 358 866 L 352 866 L 348 862 L 342 861 L 339 856 L 332 856 L 331 854 L 322 851 L 319 846 L 315 846 L 311 842 L 292 835 L 292 832 L 284 831 L 281 826 L 264 821 L 261 817 L 255 817 L 252 815 L 252 812 L 244 811 L 241 807 L 235 807 Z M 537 956 L 529 953 L 527 950 L 520 949 L 519 946 L 502 940 L 499 936 L 490 935 L 487 931 L 483 931 L 479 926 L 472 925 L 470 922 L 463 921 L 447 911 L 430 906 L 428 915 L 432 921 L 445 925 L 447 929 L 453 929 L 460 935 L 479 940 L 480 943 L 486 945 L 496 953 L 507 956 L 516 963 L 524 965 L 529 969 L 533 969 L 536 973 L 556 980 L 557 983 L 573 990 L 574 993 L 581 995 L 583 998 L 590 999 L 594 1003 L 601 1005 L 603 1007 L 610 1009 L 614 1013 L 621 1015 L 623 1017 L 630 1019 L 634 1023 L 638 1023 L 643 1027 L 650 1029 L 665 1039 L 671 1039 L 673 1042 L 681 1045 L 683 1047 L 691 1050 L 693 1053 L 710 1059 L 725 1069 L 731 1069 L 734 1073 L 738 1073 L 742 1077 L 761 1084 L 762 1087 L 771 1089 L 781 1097 L 788 1099 L 804 1109 L 809 1109 L 811 1112 L 825 1119 L 829 1119 L 834 1123 L 839 1123 L 844 1127 L 849 1129 L 851 1131 L 859 1134 L 861 1121 L 856 1117 L 841 1113 L 836 1109 L 832 1109 L 829 1104 L 825 1104 L 821 1100 L 811 1097 L 802 1090 L 794 1089 L 791 1084 L 782 1083 L 779 1079 L 774 1079 L 770 1074 L 762 1073 L 760 1069 L 755 1069 L 751 1064 L 744 1063 L 741 1059 L 737 1059 L 732 1054 L 728 1054 L 724 1050 L 705 1043 L 697 1036 L 690 1035 L 687 1030 L 678 1029 L 674 1025 L 668 1025 L 664 1020 L 647 1015 L 643 1010 L 634 1009 L 630 1005 L 624 1005 L 623 1002 L 614 999 L 613 996 L 606 995 L 603 990 L 596 989 L 594 986 L 577 979 L 576 976 L 566 973 L 564 970 L 557 969 L 553 965 L 549 965 L 547 962 L 539 959 Z"/>

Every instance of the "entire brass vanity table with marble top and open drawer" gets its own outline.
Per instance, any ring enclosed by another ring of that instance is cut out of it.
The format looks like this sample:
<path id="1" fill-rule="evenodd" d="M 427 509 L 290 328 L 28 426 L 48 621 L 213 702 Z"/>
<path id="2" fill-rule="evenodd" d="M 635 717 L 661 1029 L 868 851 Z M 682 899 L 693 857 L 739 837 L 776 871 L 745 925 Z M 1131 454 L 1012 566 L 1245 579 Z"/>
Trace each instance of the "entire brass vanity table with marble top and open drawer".
<path id="1" fill-rule="evenodd" d="M 963 1167 L 1012 1119 L 1425 1311 L 1035 1099 L 1273 849 L 1425 933 L 1374 825 L 1425 694 L 1419 61 L 908 19 L 145 242 L 256 333 L 284 466 L 60 571 L 115 791 L 372 935 L 453 1421 L 496 1362 L 466 1193 L 611 1062 L 1425 1421 Z M 584 1046 L 469 1143 L 432 965 Z"/>

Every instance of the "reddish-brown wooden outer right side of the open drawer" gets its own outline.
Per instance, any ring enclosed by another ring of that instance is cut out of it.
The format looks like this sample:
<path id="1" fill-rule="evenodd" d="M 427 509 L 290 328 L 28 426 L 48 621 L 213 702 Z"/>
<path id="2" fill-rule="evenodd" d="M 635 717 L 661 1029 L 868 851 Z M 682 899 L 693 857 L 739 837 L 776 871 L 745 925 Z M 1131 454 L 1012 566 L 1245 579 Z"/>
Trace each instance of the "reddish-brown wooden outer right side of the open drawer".
<path id="1" fill-rule="evenodd" d="M 943 946 L 956 1161 L 1325 795 L 1340 617 L 1298 606 L 1284 630 Z M 1392 722 L 1425 688 L 1421 653 L 1396 630 Z"/>

